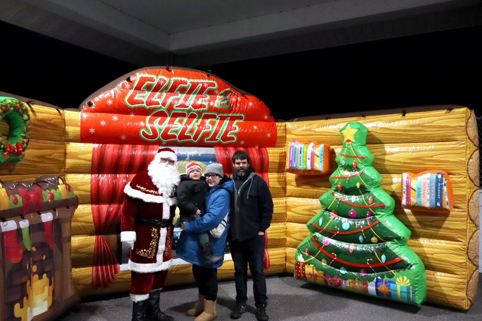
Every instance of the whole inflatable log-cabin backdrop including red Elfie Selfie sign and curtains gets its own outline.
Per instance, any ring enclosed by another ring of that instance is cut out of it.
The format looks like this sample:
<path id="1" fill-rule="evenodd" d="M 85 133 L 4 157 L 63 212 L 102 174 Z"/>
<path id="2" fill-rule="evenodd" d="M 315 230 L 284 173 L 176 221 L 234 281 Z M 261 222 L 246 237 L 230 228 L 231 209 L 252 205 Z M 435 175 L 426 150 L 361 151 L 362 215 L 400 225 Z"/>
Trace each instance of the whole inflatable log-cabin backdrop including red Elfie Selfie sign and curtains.
<path id="1" fill-rule="evenodd" d="M 397 204 L 394 214 L 412 232 L 408 245 L 425 264 L 427 300 L 459 309 L 470 307 L 478 278 L 479 182 L 477 127 L 467 108 L 407 113 L 405 117 L 392 114 L 275 123 L 259 99 L 212 75 L 183 69 L 166 73 L 162 67 L 151 70 L 135 71 L 108 84 L 82 103 L 82 112 L 31 103 L 31 141 L 24 161 L 0 165 L 3 181 L 33 181 L 40 174 L 53 174 L 75 191 L 79 206 L 71 226 L 72 279 L 81 295 L 129 290 L 128 252 L 119 239 L 122 189 L 149 164 L 159 145 L 176 149 L 182 155 L 180 164 L 188 160 L 219 162 L 226 174 L 232 171 L 230 153 L 246 149 L 256 171 L 269 184 L 275 204 L 267 233 L 266 271 L 292 273 L 294 251 L 308 235 L 306 223 L 319 212 L 318 198 L 331 184 L 328 175 L 285 173 L 286 143 L 297 138 L 330 144 L 330 168 L 335 169 L 334 158 L 341 145 L 338 130 L 349 121 L 358 121 L 369 128 L 367 146 L 375 156 L 373 166 L 383 176 L 381 187 Z M 197 99 L 191 101 L 186 97 L 171 99 L 170 89 L 162 97 L 153 94 L 157 85 L 167 83 L 163 83 L 164 78 L 170 79 L 179 71 L 188 72 L 186 81 L 197 80 L 192 85 L 199 88 L 203 88 L 199 80 L 206 81 L 207 94 L 198 90 Z M 137 95 L 132 94 L 133 88 Z M 116 95 L 121 95 L 120 99 Z M 192 112 L 167 108 L 167 113 L 162 113 L 163 108 L 154 108 L 166 99 L 183 108 L 186 103 L 194 104 L 189 109 Z M 133 106 L 144 105 L 127 108 L 127 101 Z M 250 106 L 258 110 L 251 116 Z M 243 121 L 228 119 L 230 113 L 243 114 Z M 207 131 L 202 131 L 201 120 L 208 124 Z M 180 130 L 186 126 L 193 130 Z M 195 136 L 194 129 L 201 129 L 197 142 L 182 141 L 183 135 Z M 141 132 L 145 138 L 155 134 L 156 140 L 139 138 Z M 433 168 L 449 174 L 454 209 L 445 214 L 402 209 L 401 174 Z M 218 272 L 220 278 L 233 276 L 232 261 L 228 255 L 225 259 Z M 192 281 L 191 265 L 171 267 L 167 284 Z"/>

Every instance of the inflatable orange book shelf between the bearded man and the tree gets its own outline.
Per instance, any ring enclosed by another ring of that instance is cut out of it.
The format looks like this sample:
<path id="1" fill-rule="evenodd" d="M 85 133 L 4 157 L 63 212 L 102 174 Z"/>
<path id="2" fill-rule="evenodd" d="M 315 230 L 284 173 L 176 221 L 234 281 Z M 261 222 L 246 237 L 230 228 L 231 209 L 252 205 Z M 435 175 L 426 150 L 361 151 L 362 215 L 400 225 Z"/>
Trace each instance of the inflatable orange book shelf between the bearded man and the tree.
<path id="1" fill-rule="evenodd" d="M 286 146 L 286 172 L 305 175 L 327 174 L 330 145 L 293 139 Z"/>

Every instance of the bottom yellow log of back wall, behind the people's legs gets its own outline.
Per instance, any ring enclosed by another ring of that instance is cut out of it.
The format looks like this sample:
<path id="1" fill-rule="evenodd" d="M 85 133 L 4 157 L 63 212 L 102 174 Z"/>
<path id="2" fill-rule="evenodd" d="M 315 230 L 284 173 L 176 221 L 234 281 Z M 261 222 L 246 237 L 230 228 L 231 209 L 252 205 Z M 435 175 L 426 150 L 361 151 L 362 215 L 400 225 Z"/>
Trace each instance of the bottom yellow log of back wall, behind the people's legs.
<path id="1" fill-rule="evenodd" d="M 282 273 L 286 270 L 286 251 L 284 248 L 268 249 L 270 256 L 270 268 L 265 271 L 267 274 Z M 248 273 L 250 273 L 248 271 Z M 72 281 L 76 290 L 85 296 L 99 295 L 115 292 L 127 292 L 131 288 L 131 271 L 121 271 L 117 275 L 114 283 L 106 289 L 92 289 L 92 267 L 82 267 L 72 269 Z M 232 261 L 224 261 L 223 265 L 217 269 L 218 279 L 232 278 L 234 276 L 234 265 Z M 171 266 L 166 279 L 166 285 L 192 283 L 192 265 Z"/>

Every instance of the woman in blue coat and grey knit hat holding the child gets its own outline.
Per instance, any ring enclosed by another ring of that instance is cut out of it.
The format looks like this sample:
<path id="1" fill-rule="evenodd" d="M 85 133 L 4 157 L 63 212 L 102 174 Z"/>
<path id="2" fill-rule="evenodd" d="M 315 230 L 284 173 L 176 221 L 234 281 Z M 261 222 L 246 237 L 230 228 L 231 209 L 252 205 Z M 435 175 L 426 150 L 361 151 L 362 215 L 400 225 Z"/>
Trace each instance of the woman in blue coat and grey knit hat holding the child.
<path id="1" fill-rule="evenodd" d="M 206 194 L 203 216 L 200 220 L 181 223 L 176 254 L 192 263 L 192 273 L 199 289 L 198 304 L 187 311 L 187 315 L 198 315 L 194 321 L 210 321 L 216 318 L 217 268 L 222 265 L 229 230 L 229 204 L 233 182 L 222 172 L 221 164 L 207 166 L 205 175 L 209 191 Z M 224 231 L 223 231 L 224 228 Z M 214 256 L 221 259 L 213 265 L 204 264 L 204 256 L 199 246 L 198 233 L 209 233 Z M 213 234 L 217 237 L 214 237 Z M 219 236 L 220 235 L 220 236 Z"/>

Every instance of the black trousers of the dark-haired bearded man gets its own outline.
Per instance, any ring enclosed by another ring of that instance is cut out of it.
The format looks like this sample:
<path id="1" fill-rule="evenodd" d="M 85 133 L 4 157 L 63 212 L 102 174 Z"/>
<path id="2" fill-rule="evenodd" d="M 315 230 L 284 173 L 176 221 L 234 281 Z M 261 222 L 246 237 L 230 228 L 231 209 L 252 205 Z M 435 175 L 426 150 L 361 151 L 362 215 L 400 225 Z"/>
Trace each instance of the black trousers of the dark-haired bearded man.
<path id="1" fill-rule="evenodd" d="M 257 235 L 243 242 L 230 241 L 229 250 L 234 262 L 234 282 L 236 284 L 236 303 L 246 304 L 248 300 L 248 263 L 253 276 L 253 293 L 256 307 L 268 304 L 265 277 L 265 236 Z"/>

